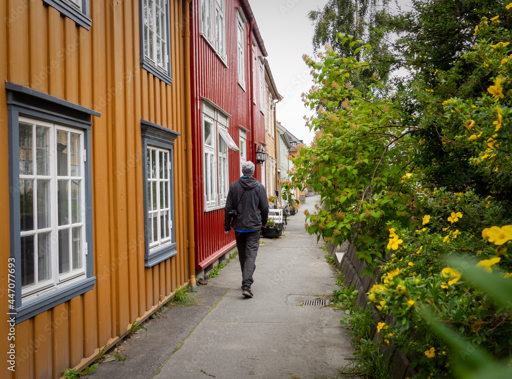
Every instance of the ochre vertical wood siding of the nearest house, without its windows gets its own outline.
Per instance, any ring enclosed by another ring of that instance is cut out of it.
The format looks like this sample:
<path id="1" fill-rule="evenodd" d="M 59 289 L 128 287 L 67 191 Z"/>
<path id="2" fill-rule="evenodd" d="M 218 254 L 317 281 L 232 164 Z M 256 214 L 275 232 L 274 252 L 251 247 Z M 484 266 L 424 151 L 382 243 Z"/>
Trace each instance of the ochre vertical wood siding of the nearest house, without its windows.
<path id="1" fill-rule="evenodd" d="M 172 85 L 140 67 L 139 1 L 90 0 L 86 30 L 41 0 L 0 5 L 0 76 L 101 113 L 92 117 L 93 290 L 16 325 L 16 371 L 6 378 L 59 377 L 91 362 L 105 344 L 188 280 L 183 4 L 169 0 Z M 11 15 L 15 17 L 9 18 Z M 9 21 L 11 20 L 11 22 Z M 9 182 L 7 100 L 0 90 L 0 182 Z M 178 253 L 144 267 L 144 199 L 140 120 L 181 135 L 174 146 L 175 238 Z M 9 188 L 0 186 L 0 212 L 9 214 Z M 9 241 L 9 221 L 0 239 Z M 0 251 L 0 288 L 7 288 L 9 249 Z M 5 294 L 0 295 L 6 301 Z M 0 316 L 0 334 L 9 331 Z M 9 350 L 2 339 L 0 348 Z"/>

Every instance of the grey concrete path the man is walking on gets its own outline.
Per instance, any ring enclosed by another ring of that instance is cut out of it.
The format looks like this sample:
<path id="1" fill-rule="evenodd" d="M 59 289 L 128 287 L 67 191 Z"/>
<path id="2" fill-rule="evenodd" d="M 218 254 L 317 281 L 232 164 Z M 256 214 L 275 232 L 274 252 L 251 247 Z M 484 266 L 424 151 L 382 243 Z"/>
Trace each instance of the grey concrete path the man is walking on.
<path id="1" fill-rule="evenodd" d="M 147 324 L 148 337 L 142 331 L 124 343 L 124 366 L 104 363 L 90 377 L 335 378 L 353 358 L 348 330 L 339 323 L 345 313 L 302 305 L 332 298 L 337 289 L 322 244 L 304 229 L 303 211 L 313 211 L 318 199 L 307 198 L 281 238 L 262 239 L 252 299 L 242 296 L 234 258 L 207 286 L 198 286 L 200 304 L 168 309 L 167 318 Z"/>

